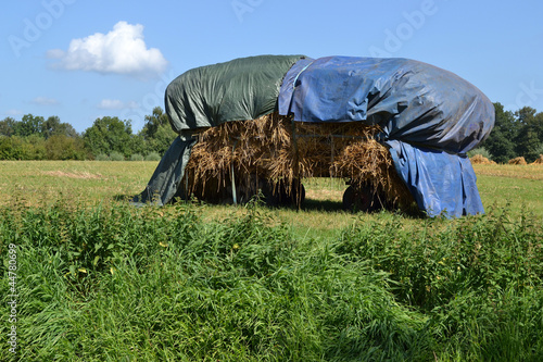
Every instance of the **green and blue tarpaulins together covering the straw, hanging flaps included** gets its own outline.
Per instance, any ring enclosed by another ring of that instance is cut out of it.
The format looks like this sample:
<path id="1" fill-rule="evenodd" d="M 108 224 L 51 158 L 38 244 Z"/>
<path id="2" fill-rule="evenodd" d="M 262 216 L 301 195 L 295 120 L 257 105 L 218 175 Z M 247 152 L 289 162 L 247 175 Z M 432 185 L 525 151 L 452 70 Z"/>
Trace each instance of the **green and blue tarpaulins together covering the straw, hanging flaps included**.
<path id="1" fill-rule="evenodd" d="M 281 83 L 282 82 L 282 83 Z M 166 89 L 166 113 L 180 134 L 141 202 L 168 202 L 194 142 L 191 130 L 254 120 L 278 109 L 299 122 L 378 124 L 379 141 L 428 215 L 483 212 L 466 152 L 494 125 L 490 100 L 453 73 L 407 59 L 262 55 L 198 67 Z M 151 199 L 151 196 L 157 198 Z"/>

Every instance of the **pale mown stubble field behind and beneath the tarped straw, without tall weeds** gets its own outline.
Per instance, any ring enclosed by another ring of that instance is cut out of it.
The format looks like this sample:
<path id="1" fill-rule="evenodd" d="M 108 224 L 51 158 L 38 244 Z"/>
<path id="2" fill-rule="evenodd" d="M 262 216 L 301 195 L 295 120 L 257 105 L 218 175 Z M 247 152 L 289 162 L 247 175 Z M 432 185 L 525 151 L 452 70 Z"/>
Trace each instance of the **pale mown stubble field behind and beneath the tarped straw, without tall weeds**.
<path id="1" fill-rule="evenodd" d="M 0 161 L 0 204 L 43 205 L 59 198 L 83 204 L 124 202 L 143 190 L 155 166 L 146 161 Z M 508 205 L 513 214 L 523 210 L 543 219 L 543 165 L 475 164 L 473 168 L 485 208 Z M 341 211 L 346 188 L 341 179 L 312 178 L 304 185 L 304 212 L 275 210 L 277 216 L 316 229 L 352 222 L 353 215 Z M 233 207 L 205 208 L 210 217 L 220 217 Z"/>

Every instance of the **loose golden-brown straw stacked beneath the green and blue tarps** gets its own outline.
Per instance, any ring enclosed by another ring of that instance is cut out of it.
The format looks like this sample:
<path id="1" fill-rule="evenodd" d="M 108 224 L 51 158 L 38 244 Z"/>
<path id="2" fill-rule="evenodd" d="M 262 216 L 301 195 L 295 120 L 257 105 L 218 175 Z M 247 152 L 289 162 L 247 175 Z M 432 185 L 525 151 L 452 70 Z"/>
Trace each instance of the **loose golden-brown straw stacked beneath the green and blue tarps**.
<path id="1" fill-rule="evenodd" d="M 331 176 L 370 188 L 393 207 L 411 205 L 389 150 L 374 139 L 378 130 L 357 122 L 292 122 L 277 112 L 227 122 L 198 134 L 185 185 L 198 197 L 230 201 L 233 184 L 238 199 L 247 201 L 263 186 L 292 196 L 302 192 L 302 179 Z"/>

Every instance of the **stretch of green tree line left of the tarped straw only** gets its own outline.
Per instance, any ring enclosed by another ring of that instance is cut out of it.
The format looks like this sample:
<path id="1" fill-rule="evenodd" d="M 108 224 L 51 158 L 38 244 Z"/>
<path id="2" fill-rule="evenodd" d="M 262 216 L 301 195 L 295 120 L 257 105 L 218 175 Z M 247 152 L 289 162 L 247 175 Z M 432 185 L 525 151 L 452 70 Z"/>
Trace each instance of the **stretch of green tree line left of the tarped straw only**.
<path id="1" fill-rule="evenodd" d="M 157 161 L 177 136 L 156 107 L 134 133 L 130 121 L 104 116 L 78 134 L 58 116 L 26 114 L 0 121 L 0 160 L 151 160 Z"/>

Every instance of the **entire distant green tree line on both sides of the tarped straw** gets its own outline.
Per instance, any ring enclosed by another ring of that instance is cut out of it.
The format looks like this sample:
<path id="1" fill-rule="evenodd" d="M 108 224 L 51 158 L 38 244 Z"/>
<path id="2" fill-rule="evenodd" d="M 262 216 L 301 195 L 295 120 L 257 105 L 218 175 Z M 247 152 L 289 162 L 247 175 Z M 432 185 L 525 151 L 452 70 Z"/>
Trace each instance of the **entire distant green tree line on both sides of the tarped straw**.
<path id="1" fill-rule="evenodd" d="M 516 157 L 532 162 L 543 154 L 543 113 L 525 107 L 506 111 L 496 102 L 495 125 L 490 136 L 471 153 L 497 163 Z M 177 135 L 166 113 L 156 107 L 144 125 L 134 133 L 130 121 L 104 116 L 78 134 L 58 116 L 47 120 L 26 114 L 21 121 L 0 121 L 0 160 L 152 160 L 164 154 Z"/>

